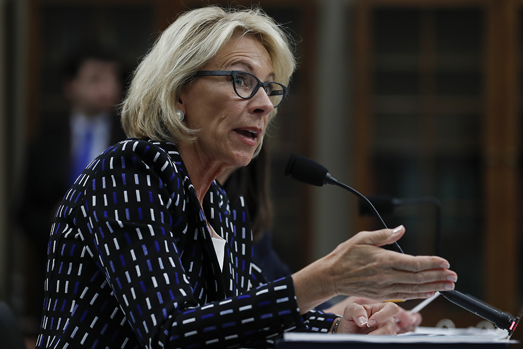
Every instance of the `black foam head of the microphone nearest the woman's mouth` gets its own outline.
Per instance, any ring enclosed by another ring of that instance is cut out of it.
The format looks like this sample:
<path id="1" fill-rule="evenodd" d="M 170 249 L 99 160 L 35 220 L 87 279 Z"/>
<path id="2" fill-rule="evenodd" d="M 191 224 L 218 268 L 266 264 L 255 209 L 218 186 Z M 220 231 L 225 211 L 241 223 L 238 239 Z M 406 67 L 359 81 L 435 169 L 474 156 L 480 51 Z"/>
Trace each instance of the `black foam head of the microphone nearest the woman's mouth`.
<path id="1" fill-rule="evenodd" d="M 327 183 L 327 174 L 328 170 L 319 163 L 296 154 L 291 154 L 285 168 L 286 176 L 318 187 Z"/>

